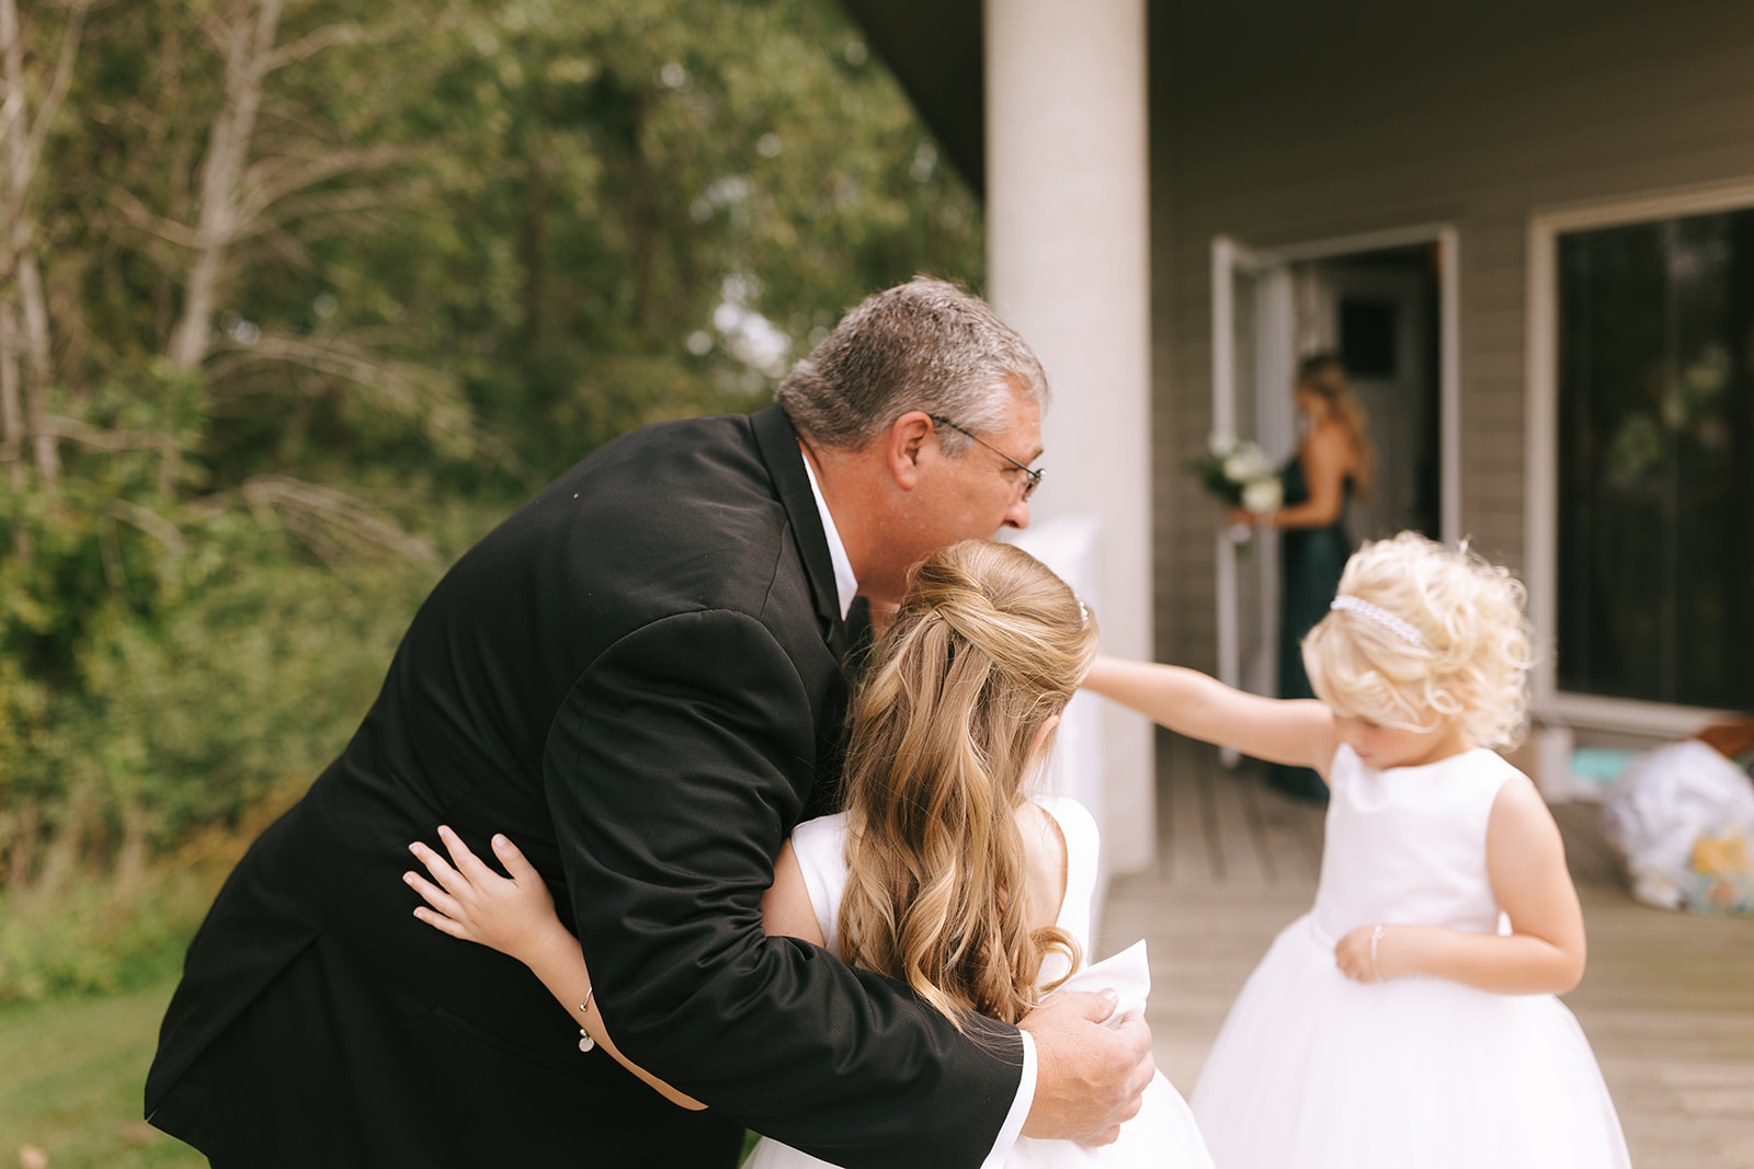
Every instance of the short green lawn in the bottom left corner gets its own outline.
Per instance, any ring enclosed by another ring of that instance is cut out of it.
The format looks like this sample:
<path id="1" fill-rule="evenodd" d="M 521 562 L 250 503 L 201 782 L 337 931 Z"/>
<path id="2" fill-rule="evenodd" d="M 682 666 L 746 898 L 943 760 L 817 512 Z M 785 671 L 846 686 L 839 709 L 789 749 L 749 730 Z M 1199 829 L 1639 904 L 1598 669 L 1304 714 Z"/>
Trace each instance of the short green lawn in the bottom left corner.
<path id="1" fill-rule="evenodd" d="M 207 1158 L 140 1118 L 158 1022 L 175 988 L 161 978 L 112 997 L 0 1010 L 0 1165 L 47 1153 L 49 1169 L 163 1169 Z"/>

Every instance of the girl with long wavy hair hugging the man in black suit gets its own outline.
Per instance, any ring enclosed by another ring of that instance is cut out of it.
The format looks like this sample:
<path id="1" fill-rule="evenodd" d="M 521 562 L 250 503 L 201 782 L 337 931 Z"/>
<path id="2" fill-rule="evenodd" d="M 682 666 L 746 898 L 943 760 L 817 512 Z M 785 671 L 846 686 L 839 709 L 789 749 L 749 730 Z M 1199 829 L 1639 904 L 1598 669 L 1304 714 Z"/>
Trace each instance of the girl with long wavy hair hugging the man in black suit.
<path id="1" fill-rule="evenodd" d="M 982 1018 L 1017 1024 L 1056 988 L 1131 980 L 1128 1006 L 1142 1010 L 1142 945 L 1079 969 L 1096 885 L 1094 820 L 1075 801 L 1030 790 L 1096 643 L 1094 615 L 1021 549 L 968 540 L 921 563 L 852 703 L 845 810 L 800 824 L 782 847 L 761 903 L 766 932 L 907 983 L 975 1034 Z M 449 861 L 412 845 L 433 878 L 405 878 L 430 906 L 416 915 L 530 966 L 584 1024 L 582 1043 L 602 1043 L 672 1101 L 700 1108 L 614 1048 L 589 1003 L 579 943 L 517 848 L 493 840 L 507 880 L 449 829 L 440 836 Z M 758 1116 L 747 1122 L 759 1127 Z M 824 1164 L 763 1139 L 745 1169 Z M 1156 1074 L 1114 1143 L 1019 1137 L 1003 1164 L 1212 1162 L 1187 1104 Z"/>

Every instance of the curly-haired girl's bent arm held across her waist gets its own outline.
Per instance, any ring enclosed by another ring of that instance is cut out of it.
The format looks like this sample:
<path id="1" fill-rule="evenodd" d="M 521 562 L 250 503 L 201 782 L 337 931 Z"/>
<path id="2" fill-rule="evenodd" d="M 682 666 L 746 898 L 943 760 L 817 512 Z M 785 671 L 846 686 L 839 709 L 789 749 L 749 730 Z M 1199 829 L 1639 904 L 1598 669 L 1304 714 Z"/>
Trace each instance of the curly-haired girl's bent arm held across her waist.
<path id="1" fill-rule="evenodd" d="M 1510 780 L 1493 801 L 1486 827 L 1493 896 L 1512 932 L 1468 934 L 1442 925 L 1382 927 L 1377 971 L 1370 931 L 1354 929 L 1335 946 L 1340 969 L 1358 981 L 1433 974 L 1498 994 L 1565 994 L 1584 976 L 1584 913 L 1565 868 L 1565 843 L 1552 813 L 1528 780 Z"/>

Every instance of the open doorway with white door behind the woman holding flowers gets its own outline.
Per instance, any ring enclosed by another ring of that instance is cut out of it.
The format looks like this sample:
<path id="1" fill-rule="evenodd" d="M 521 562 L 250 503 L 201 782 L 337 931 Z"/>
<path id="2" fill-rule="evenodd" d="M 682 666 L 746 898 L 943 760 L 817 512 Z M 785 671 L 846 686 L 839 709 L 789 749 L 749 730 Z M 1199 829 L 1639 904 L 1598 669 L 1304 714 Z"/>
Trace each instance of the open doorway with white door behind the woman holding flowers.
<path id="1" fill-rule="evenodd" d="M 1286 249 L 1212 244 L 1212 424 L 1277 463 L 1301 442 L 1293 379 L 1338 354 L 1370 419 L 1377 484 L 1347 510 L 1354 543 L 1414 529 L 1459 536 L 1456 464 L 1456 235 L 1452 228 L 1351 237 Z M 1270 531 L 1221 533 L 1219 677 L 1277 689 L 1279 547 Z"/>

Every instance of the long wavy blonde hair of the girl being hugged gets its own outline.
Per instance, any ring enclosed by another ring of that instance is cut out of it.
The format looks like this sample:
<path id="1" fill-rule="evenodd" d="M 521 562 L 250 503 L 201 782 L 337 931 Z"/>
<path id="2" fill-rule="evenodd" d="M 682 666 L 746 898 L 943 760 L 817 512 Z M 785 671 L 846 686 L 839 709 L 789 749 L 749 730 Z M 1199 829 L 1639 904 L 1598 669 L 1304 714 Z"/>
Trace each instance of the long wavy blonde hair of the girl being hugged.
<path id="1" fill-rule="evenodd" d="M 914 571 L 854 699 L 844 957 L 958 1027 L 1023 1018 L 1049 950 L 1079 964 L 1066 931 L 1030 927 L 1016 810 L 1094 655 L 1096 620 L 1059 577 L 966 540 Z"/>

